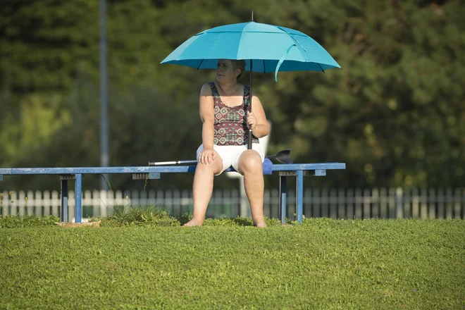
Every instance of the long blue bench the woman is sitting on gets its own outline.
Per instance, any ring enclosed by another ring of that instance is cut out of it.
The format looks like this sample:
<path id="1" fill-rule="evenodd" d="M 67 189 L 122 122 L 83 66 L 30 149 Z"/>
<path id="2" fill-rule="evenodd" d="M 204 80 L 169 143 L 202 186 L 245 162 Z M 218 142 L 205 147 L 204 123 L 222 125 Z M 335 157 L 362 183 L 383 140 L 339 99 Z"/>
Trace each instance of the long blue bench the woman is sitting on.
<path id="1" fill-rule="evenodd" d="M 4 175 L 59 175 L 61 180 L 61 221 L 68 218 L 68 180 L 75 180 L 75 221 L 82 222 L 82 175 L 132 173 L 133 179 L 159 179 L 161 173 L 193 173 L 196 166 L 128 166 L 128 167 L 71 167 L 71 168 L 0 168 L 0 181 Z M 345 169 L 345 163 L 271 163 L 263 162 L 263 174 L 278 172 L 280 177 L 280 220 L 285 223 L 286 179 L 297 178 L 297 223 L 304 214 L 304 176 L 324 176 L 327 170 Z M 229 168 L 228 171 L 234 171 Z"/>

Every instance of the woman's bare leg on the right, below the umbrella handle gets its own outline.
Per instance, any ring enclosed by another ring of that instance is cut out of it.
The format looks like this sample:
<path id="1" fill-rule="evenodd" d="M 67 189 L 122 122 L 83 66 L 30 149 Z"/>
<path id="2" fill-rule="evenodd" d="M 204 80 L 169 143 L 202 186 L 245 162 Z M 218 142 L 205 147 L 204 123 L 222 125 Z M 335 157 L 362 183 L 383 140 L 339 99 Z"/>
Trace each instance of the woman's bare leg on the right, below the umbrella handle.
<path id="1" fill-rule="evenodd" d="M 265 183 L 260 154 L 252 149 L 244 151 L 239 158 L 239 171 L 244 175 L 244 187 L 249 198 L 254 225 L 266 227 L 265 216 L 263 215 Z"/>

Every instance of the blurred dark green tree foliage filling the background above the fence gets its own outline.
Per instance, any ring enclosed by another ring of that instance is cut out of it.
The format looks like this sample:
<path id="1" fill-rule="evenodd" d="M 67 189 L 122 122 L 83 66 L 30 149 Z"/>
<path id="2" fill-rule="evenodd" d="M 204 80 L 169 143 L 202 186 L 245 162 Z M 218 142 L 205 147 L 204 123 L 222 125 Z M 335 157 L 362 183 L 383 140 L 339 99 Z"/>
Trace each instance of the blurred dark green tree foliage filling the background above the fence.
<path id="1" fill-rule="evenodd" d="M 199 89 L 214 76 L 159 63 L 202 30 L 250 20 L 252 8 L 255 21 L 310 35 L 342 66 L 279 73 L 278 82 L 254 74 L 273 123 L 269 154 L 292 148 L 295 162 L 347 163 L 346 171 L 306 181 L 311 186 L 463 186 L 465 6 L 458 0 L 108 0 L 111 166 L 194 157 Z M 98 1 L 2 4 L 0 113 L 1 167 L 99 165 Z M 162 178 L 150 186 L 192 182 L 192 175 Z M 143 186 L 128 176 L 111 183 Z M 57 182 L 0 184 L 40 190 Z"/>

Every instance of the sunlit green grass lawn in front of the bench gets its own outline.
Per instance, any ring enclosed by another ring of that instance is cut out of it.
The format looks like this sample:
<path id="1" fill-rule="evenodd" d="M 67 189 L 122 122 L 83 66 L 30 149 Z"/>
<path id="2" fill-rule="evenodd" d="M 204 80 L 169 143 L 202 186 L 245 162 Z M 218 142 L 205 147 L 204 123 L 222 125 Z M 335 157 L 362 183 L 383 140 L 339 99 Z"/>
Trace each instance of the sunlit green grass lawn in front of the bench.
<path id="1" fill-rule="evenodd" d="M 247 223 L 0 228 L 0 309 L 465 308 L 465 221 Z"/>

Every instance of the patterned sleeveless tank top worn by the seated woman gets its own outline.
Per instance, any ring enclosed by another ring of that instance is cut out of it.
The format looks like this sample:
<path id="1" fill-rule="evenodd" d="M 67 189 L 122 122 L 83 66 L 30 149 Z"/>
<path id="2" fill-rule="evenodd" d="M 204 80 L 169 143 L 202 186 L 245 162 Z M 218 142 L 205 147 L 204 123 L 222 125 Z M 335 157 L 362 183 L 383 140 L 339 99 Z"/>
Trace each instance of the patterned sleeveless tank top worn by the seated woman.
<path id="1" fill-rule="evenodd" d="M 226 106 L 221 101 L 220 93 L 214 82 L 209 82 L 215 103 L 215 121 L 213 123 L 216 145 L 244 145 L 249 141 L 247 127 L 247 110 L 250 106 L 250 87 L 244 85 L 244 97 L 240 106 Z M 259 139 L 252 135 L 252 143 Z"/>

